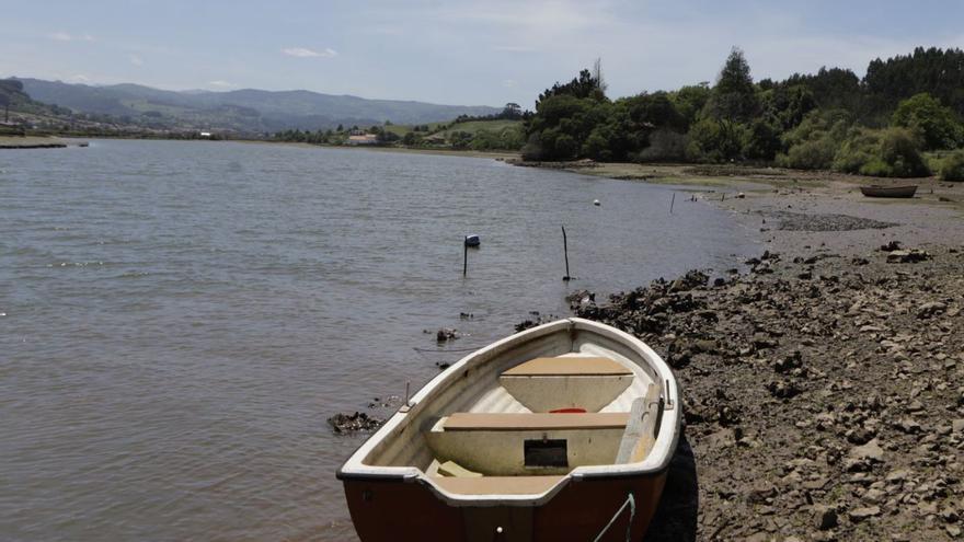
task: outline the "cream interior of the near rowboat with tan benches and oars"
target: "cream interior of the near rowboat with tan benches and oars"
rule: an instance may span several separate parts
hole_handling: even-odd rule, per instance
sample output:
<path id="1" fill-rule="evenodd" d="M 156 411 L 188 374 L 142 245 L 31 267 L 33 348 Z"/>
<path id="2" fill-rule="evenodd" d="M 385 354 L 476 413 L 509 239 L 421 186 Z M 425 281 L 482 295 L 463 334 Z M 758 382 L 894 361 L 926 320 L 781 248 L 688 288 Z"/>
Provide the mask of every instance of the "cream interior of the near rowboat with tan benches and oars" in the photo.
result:
<path id="1" fill-rule="evenodd" d="M 558 324 L 436 377 L 364 464 L 417 468 L 449 494 L 537 495 L 582 466 L 645 460 L 665 406 L 652 360 L 616 337 Z"/>

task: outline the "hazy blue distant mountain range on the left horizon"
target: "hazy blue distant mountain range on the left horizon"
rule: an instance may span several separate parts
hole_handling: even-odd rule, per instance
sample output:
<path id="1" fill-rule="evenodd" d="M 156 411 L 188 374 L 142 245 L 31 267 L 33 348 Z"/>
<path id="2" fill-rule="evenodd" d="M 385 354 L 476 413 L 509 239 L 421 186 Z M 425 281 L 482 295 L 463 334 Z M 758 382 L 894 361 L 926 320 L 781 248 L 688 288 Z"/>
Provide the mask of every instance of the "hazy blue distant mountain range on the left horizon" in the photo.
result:
<path id="1" fill-rule="evenodd" d="M 501 107 L 438 105 L 397 100 L 366 100 L 310 91 L 165 91 L 139 84 L 95 87 L 41 79 L 18 79 L 38 102 L 77 113 L 111 115 L 125 123 L 170 129 L 265 132 L 345 126 L 426 124 L 459 115 L 491 115 Z"/>

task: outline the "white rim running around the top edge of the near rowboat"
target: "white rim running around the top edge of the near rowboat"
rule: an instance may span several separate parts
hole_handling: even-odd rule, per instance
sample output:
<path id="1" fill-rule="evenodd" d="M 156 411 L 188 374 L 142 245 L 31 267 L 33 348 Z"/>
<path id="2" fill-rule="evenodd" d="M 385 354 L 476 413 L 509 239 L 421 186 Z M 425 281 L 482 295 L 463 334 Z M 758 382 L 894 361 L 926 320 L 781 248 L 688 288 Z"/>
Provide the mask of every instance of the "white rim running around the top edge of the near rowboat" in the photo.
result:
<path id="1" fill-rule="evenodd" d="M 540 494 L 491 494 L 491 495 L 462 495 L 446 492 L 435 484 L 431 476 L 417 466 L 383 466 L 368 465 L 363 460 L 375 451 L 376 447 L 386 438 L 405 424 L 410 416 L 417 416 L 432 400 L 443 393 L 450 380 L 461 378 L 460 373 L 468 370 L 472 365 L 481 365 L 495 359 L 502 350 L 506 350 L 525 342 L 550 335 L 553 333 L 570 333 L 573 337 L 578 332 L 590 332 L 602 337 L 630 346 L 641 358 L 635 362 L 642 370 L 654 371 L 663 389 L 662 397 L 667 402 L 663 411 L 659 424 L 659 437 L 646 455 L 646 459 L 636 463 L 584 465 L 577 466 L 564 475 L 556 484 Z M 480 360 L 481 359 L 481 360 Z M 667 389 L 668 385 L 668 389 Z M 672 404 L 669 404 L 672 402 Z M 409 401 L 409 404 L 394 413 L 381 428 L 371 435 L 358 449 L 353 452 L 336 472 L 336 477 L 342 481 L 398 481 L 405 483 L 418 482 L 426 485 L 443 500 L 451 506 L 473 506 L 478 504 L 489 505 L 516 505 L 539 506 L 551 499 L 559 491 L 572 482 L 589 482 L 593 480 L 611 480 L 615 477 L 646 477 L 657 476 L 664 473 L 673 459 L 673 453 L 679 439 L 681 424 L 681 400 L 678 383 L 672 369 L 652 348 L 639 338 L 617 330 L 615 327 L 594 322 L 590 320 L 569 318 L 550 322 L 548 324 L 531 327 L 508 337 L 504 337 L 487 346 L 484 346 L 452 364 L 448 369 L 435 376 Z M 404 411 L 404 412 L 403 412 Z"/>

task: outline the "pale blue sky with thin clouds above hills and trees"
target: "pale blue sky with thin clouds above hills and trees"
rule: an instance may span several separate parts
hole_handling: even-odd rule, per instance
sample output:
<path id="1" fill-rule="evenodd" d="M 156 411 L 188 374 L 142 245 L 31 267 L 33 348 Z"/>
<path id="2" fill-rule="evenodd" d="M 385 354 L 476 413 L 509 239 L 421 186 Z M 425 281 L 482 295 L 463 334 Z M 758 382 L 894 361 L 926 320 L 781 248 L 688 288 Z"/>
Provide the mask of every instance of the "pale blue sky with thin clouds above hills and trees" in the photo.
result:
<path id="1" fill-rule="evenodd" d="M 960 0 L 0 0 L 0 77 L 169 90 L 305 89 L 532 107 L 601 59 L 610 97 L 713 81 L 863 76 L 916 46 L 964 48 Z"/>

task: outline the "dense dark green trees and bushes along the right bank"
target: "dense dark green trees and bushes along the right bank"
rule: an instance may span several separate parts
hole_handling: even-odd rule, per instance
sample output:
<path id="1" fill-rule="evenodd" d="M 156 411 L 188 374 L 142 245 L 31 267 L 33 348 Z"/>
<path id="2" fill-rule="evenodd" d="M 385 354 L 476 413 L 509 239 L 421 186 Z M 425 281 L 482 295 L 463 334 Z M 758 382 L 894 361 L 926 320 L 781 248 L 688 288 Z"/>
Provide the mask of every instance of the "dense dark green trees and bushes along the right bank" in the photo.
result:
<path id="1" fill-rule="evenodd" d="M 926 150 L 964 145 L 964 53 L 916 49 L 852 71 L 754 82 L 734 48 L 714 85 L 610 100 L 598 67 L 539 95 L 527 160 L 774 163 L 877 176 L 930 174 Z M 911 76 L 908 76 L 911 74 Z"/>

